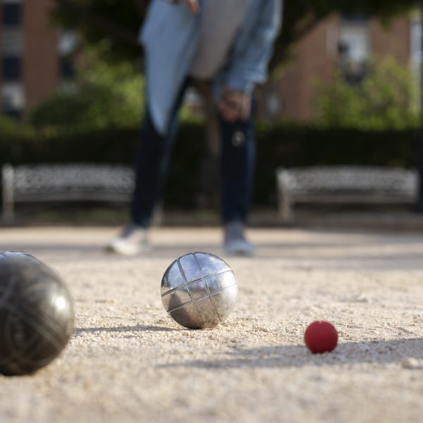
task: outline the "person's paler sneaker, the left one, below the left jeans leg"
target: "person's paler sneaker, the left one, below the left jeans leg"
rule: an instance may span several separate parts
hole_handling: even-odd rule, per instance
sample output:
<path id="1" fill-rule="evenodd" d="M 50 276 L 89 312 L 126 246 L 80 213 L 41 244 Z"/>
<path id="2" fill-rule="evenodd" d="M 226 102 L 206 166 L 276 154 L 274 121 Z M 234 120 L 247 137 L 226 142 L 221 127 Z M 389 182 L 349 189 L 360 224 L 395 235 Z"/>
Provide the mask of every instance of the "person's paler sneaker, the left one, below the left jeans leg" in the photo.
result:
<path id="1" fill-rule="evenodd" d="M 149 249 L 148 230 L 134 224 L 125 226 L 121 235 L 111 240 L 111 243 L 106 246 L 107 252 L 126 256 L 135 256 Z"/>

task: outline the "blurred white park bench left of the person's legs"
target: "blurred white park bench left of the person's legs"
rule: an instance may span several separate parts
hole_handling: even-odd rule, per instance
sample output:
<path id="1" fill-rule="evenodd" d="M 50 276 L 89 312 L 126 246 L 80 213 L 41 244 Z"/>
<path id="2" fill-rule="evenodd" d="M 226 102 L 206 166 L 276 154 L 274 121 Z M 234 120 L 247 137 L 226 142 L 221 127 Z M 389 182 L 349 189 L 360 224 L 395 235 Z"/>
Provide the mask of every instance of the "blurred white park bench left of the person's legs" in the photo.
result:
<path id="1" fill-rule="evenodd" d="M 12 222 L 18 202 L 128 202 L 133 169 L 106 164 L 2 166 L 3 220 Z"/>

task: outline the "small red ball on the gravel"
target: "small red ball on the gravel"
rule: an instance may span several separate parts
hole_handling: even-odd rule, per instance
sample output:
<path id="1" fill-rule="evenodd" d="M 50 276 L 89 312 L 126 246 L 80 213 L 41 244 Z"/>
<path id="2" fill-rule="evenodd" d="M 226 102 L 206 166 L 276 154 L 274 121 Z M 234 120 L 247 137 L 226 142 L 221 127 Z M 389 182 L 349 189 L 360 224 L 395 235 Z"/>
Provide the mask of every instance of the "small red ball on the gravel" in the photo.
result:
<path id="1" fill-rule="evenodd" d="M 313 321 L 304 333 L 307 348 L 313 353 L 330 353 L 338 344 L 338 332 L 329 321 Z"/>

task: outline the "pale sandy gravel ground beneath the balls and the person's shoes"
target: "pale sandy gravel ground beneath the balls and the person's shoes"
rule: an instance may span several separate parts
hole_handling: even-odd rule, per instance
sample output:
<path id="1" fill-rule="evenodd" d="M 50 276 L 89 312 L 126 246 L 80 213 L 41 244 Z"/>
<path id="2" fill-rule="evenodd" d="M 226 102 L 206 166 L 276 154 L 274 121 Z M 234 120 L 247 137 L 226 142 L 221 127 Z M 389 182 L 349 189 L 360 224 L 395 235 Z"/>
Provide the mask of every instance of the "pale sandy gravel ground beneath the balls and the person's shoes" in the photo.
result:
<path id="1" fill-rule="evenodd" d="M 421 422 L 423 234 L 252 229 L 254 258 L 226 257 L 216 228 L 158 228 L 154 250 L 106 255 L 117 228 L 1 228 L 75 297 L 75 334 L 32 376 L 0 376 L 0 422 Z M 207 251 L 240 295 L 221 326 L 190 331 L 164 312 L 161 276 Z M 333 353 L 307 324 L 331 321 Z"/>

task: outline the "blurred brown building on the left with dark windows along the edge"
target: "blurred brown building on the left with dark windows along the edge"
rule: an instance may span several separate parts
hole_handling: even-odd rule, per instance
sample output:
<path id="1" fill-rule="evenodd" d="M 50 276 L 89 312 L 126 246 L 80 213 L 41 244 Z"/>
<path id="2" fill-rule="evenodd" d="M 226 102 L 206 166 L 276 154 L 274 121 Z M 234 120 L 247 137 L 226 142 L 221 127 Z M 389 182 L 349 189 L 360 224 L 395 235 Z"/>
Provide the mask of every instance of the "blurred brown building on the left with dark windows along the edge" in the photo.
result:
<path id="1" fill-rule="evenodd" d="M 51 0 L 0 0 L 0 111 L 21 116 L 72 72 L 70 41 L 51 23 Z"/>

